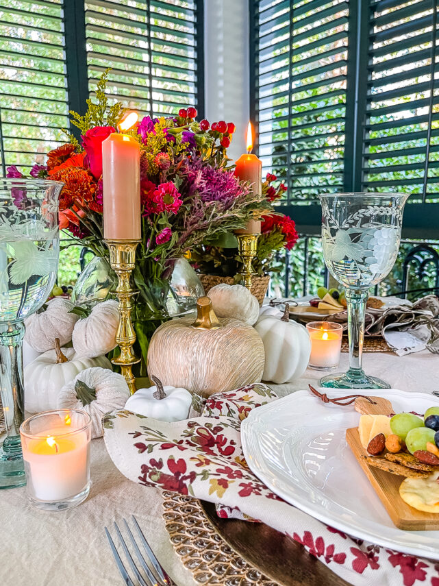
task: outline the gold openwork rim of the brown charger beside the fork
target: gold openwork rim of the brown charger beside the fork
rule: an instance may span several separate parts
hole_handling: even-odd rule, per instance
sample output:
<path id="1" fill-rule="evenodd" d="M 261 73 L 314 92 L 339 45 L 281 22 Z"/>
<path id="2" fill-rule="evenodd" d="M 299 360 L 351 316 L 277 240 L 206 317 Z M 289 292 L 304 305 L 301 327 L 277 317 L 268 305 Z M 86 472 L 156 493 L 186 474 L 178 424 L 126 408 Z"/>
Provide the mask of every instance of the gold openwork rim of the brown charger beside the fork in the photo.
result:
<path id="1" fill-rule="evenodd" d="M 199 501 L 163 491 L 163 518 L 175 552 L 199 584 L 278 586 L 244 561 L 214 531 Z"/>

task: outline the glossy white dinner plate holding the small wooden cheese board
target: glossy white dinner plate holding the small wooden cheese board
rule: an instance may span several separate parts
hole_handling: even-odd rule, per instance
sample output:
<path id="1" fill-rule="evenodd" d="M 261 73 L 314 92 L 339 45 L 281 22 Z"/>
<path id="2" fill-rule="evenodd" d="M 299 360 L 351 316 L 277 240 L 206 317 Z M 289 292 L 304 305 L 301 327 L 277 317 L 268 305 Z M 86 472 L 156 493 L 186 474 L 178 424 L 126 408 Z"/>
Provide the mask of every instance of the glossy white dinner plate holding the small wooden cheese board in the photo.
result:
<path id="1" fill-rule="evenodd" d="M 324 389 L 329 397 L 373 394 L 395 412 L 439 405 L 427 393 L 397 389 Z M 241 425 L 242 449 L 252 472 L 278 496 L 353 537 L 400 552 L 439 560 L 439 531 L 403 531 L 390 520 L 345 439 L 358 426 L 353 405 L 325 404 L 297 391 L 250 412 Z"/>

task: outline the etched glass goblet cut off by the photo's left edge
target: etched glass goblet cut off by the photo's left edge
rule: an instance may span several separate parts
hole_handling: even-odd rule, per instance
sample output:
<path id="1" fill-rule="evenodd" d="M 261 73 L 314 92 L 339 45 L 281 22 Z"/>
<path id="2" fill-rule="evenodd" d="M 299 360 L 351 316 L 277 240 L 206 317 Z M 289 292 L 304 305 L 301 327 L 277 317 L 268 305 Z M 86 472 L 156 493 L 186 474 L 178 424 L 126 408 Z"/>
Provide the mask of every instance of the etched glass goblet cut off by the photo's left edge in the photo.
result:
<path id="1" fill-rule="evenodd" d="M 0 393 L 6 437 L 0 489 L 26 483 L 19 428 L 24 419 L 23 320 L 49 296 L 60 239 L 55 181 L 0 178 Z"/>

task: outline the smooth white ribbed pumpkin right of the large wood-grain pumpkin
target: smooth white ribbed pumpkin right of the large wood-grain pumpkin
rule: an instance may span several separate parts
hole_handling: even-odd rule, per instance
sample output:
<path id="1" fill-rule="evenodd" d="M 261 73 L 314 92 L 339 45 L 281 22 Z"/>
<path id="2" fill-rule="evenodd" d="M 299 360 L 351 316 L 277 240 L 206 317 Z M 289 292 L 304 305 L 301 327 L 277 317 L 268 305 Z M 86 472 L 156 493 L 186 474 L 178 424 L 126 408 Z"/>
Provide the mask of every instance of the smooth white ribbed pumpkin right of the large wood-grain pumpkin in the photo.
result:
<path id="1" fill-rule="evenodd" d="M 255 330 L 264 343 L 265 366 L 262 380 L 282 384 L 300 378 L 308 366 L 311 339 L 308 330 L 297 321 L 288 318 L 289 307 L 279 319 L 262 315 Z"/>

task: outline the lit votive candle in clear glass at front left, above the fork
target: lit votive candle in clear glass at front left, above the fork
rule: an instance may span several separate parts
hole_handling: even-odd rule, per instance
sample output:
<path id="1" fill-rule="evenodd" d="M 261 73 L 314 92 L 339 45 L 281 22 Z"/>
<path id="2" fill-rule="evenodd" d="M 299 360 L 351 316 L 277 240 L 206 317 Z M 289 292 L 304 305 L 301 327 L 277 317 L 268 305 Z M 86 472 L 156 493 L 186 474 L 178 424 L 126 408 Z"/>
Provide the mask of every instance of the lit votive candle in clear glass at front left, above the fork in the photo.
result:
<path id="1" fill-rule="evenodd" d="M 45 411 L 21 424 L 27 498 L 36 509 L 64 511 L 88 497 L 91 424 L 79 409 Z"/>

